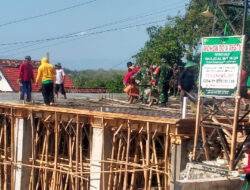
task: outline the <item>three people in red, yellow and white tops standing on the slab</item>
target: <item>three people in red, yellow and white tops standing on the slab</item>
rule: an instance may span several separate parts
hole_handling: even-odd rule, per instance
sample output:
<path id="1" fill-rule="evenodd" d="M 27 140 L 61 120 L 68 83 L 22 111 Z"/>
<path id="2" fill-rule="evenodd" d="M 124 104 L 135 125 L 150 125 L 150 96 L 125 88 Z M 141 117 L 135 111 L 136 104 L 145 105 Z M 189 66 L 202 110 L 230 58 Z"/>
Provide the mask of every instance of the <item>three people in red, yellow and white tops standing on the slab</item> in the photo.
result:
<path id="1" fill-rule="evenodd" d="M 54 90 L 54 77 L 55 90 Z M 45 105 L 54 104 L 54 93 L 58 98 L 58 92 L 61 91 L 66 99 L 66 93 L 64 90 L 65 74 L 62 69 L 61 63 L 55 64 L 55 67 L 49 63 L 49 60 L 44 57 L 41 60 L 41 65 L 38 68 L 36 80 L 34 79 L 33 67 L 31 64 L 31 57 L 26 56 L 25 60 L 19 66 L 18 83 L 20 85 L 20 100 L 24 102 L 26 94 L 26 102 L 31 102 L 32 83 L 38 86 L 38 83 L 42 83 L 42 95 Z"/>

